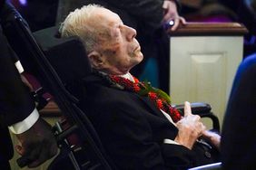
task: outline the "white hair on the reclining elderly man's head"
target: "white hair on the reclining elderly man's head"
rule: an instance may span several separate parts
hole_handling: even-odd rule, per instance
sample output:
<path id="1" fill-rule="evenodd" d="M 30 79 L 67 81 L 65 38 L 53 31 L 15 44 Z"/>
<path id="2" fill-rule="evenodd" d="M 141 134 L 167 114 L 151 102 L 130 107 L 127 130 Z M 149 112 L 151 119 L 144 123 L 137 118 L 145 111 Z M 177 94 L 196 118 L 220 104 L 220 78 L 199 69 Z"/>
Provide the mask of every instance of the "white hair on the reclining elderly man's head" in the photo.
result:
<path id="1" fill-rule="evenodd" d="M 62 37 L 79 36 L 84 43 L 86 52 L 92 52 L 97 44 L 95 28 L 89 24 L 94 21 L 95 10 L 103 8 L 101 5 L 84 5 L 80 9 L 68 14 L 64 23 L 61 24 L 59 32 Z"/>

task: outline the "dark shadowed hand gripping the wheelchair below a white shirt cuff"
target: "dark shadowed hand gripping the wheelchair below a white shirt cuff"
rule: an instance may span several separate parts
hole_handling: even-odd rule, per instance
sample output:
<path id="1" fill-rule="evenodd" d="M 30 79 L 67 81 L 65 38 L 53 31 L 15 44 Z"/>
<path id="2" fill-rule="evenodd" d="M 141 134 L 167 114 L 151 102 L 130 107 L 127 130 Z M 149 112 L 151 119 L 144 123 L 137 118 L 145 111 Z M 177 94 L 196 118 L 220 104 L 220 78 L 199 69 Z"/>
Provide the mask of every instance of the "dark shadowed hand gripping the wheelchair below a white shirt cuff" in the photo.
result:
<path id="1" fill-rule="evenodd" d="M 17 134 L 16 137 L 20 146 L 15 146 L 15 150 L 31 160 L 28 167 L 41 165 L 57 153 L 57 144 L 51 126 L 43 118 L 39 118 L 33 127 L 22 134 Z"/>

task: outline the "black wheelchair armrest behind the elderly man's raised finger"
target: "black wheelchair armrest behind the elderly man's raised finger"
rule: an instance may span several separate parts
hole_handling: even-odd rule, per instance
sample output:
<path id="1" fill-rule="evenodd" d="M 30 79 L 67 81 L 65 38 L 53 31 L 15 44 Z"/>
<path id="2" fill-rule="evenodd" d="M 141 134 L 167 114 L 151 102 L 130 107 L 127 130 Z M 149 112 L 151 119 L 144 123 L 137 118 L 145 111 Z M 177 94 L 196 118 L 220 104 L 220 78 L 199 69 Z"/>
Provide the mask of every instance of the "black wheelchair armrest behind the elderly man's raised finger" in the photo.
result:
<path id="1" fill-rule="evenodd" d="M 182 114 L 184 113 L 184 105 L 173 105 L 175 109 L 179 109 Z M 212 107 L 208 103 L 195 102 L 191 103 L 192 113 L 199 115 L 201 118 L 211 118 L 212 119 L 212 128 L 214 131 L 220 132 L 220 122 L 219 118 L 216 117 L 212 112 Z"/>

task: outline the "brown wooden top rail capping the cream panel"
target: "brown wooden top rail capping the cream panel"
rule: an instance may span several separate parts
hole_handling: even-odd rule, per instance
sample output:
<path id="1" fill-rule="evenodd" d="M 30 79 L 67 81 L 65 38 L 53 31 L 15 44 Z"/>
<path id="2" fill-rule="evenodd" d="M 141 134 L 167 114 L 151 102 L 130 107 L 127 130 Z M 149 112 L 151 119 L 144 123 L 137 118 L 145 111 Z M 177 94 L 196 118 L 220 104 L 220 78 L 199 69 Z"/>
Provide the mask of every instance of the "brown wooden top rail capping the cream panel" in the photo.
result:
<path id="1" fill-rule="evenodd" d="M 239 23 L 187 23 L 180 25 L 179 28 L 172 32 L 168 30 L 170 36 L 204 36 L 204 35 L 244 35 L 248 33 L 247 28 Z"/>

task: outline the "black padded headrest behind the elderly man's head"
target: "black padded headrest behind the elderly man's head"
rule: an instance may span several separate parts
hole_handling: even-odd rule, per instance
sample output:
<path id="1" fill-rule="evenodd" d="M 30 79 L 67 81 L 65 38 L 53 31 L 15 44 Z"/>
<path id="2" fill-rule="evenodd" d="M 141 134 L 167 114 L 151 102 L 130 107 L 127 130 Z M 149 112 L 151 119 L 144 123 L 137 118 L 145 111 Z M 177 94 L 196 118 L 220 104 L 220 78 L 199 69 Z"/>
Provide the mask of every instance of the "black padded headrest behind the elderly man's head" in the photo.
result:
<path id="1" fill-rule="evenodd" d="M 59 38 L 57 33 L 58 27 L 54 26 L 33 34 L 64 83 L 81 80 L 91 73 L 83 42 L 75 36 Z"/>

